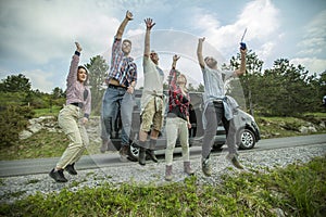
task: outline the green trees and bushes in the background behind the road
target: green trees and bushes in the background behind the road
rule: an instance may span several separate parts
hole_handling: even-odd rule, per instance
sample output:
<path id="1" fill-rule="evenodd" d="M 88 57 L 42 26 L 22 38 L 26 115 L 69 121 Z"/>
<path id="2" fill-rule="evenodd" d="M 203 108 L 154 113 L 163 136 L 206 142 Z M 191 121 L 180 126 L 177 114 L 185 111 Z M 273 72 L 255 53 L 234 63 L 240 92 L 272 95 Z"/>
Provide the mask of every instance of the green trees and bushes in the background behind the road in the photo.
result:
<path id="1" fill-rule="evenodd" d="M 246 74 L 227 82 L 227 94 L 234 97 L 242 110 L 266 117 L 300 117 L 305 113 L 325 112 L 322 100 L 326 95 L 326 71 L 318 76 L 312 75 L 302 65 L 290 64 L 287 59 L 276 60 L 271 68 L 263 71 L 263 63 L 250 50 Z M 238 53 L 230 59 L 229 65 L 223 64 L 222 68 L 236 69 L 239 65 Z M 97 55 L 85 66 L 92 75 L 89 79 L 92 115 L 99 115 L 109 65 Z M 167 88 L 164 84 L 164 89 Z M 203 92 L 204 86 L 188 84 L 188 90 Z M 18 141 L 18 132 L 26 128 L 36 110 L 49 108 L 58 114 L 65 103 L 65 90 L 59 87 L 51 93 L 33 90 L 24 74 L 11 75 L 0 81 L 0 146 L 10 146 Z"/>

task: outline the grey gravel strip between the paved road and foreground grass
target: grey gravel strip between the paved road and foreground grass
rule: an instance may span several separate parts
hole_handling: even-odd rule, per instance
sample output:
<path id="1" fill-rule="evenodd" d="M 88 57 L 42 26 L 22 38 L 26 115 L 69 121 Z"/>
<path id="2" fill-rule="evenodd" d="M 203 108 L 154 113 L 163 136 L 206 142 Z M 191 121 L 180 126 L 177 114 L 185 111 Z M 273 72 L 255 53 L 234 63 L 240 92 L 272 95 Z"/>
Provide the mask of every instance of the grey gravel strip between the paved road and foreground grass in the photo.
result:
<path id="1" fill-rule="evenodd" d="M 221 176 L 230 174 L 236 176 L 243 170 L 236 169 L 225 158 L 227 152 L 213 153 L 211 177 L 205 177 L 201 171 L 200 156 L 191 156 L 190 163 L 196 171 L 198 184 L 216 186 L 221 183 Z M 305 146 L 285 148 L 264 151 L 240 152 L 239 161 L 246 167 L 246 173 L 268 173 L 273 168 L 286 167 L 289 164 L 304 164 L 313 157 L 324 156 L 326 154 L 325 144 L 314 144 Z M 78 163 L 77 163 L 78 164 Z M 147 162 L 146 166 L 138 163 L 126 163 L 118 167 L 103 167 L 97 169 L 78 170 L 78 175 L 71 176 L 65 173 L 68 179 L 66 183 L 57 183 L 48 174 L 28 175 L 18 177 L 7 177 L 1 179 L 0 183 L 0 203 L 13 203 L 16 200 L 36 194 L 37 192 L 47 194 L 50 192 L 60 192 L 63 189 L 77 191 L 83 188 L 97 188 L 105 182 L 118 187 L 121 183 L 130 183 L 136 186 L 152 184 L 162 186 L 171 182 L 164 180 L 165 162 L 161 158 L 159 163 Z M 187 175 L 184 173 L 181 157 L 175 157 L 173 162 L 173 181 L 180 182 Z"/>

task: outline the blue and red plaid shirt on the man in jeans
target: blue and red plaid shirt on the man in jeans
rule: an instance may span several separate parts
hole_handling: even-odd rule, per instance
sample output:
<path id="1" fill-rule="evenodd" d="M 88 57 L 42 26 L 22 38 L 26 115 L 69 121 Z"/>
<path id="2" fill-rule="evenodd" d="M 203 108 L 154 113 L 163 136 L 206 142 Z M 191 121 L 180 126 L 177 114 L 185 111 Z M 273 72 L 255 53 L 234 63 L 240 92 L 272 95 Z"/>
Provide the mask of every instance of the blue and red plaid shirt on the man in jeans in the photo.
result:
<path id="1" fill-rule="evenodd" d="M 114 78 L 120 81 L 121 85 L 129 87 L 135 81 L 137 82 L 137 65 L 134 63 L 134 59 L 125 56 L 122 48 L 122 40 L 114 38 L 112 46 L 111 68 L 106 80 Z"/>

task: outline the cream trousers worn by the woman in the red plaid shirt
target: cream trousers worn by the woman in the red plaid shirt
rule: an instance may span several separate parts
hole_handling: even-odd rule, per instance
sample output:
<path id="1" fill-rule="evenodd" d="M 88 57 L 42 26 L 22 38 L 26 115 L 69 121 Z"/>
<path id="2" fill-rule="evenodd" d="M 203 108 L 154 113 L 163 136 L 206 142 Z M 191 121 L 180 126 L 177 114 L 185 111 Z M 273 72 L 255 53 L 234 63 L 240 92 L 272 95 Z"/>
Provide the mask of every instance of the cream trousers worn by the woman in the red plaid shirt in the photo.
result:
<path id="1" fill-rule="evenodd" d="M 179 117 L 167 117 L 166 118 L 166 150 L 165 150 L 165 162 L 166 165 L 172 165 L 173 151 L 177 138 L 180 140 L 183 149 L 184 162 L 189 162 L 189 143 L 188 143 L 188 127 L 187 122 Z"/>

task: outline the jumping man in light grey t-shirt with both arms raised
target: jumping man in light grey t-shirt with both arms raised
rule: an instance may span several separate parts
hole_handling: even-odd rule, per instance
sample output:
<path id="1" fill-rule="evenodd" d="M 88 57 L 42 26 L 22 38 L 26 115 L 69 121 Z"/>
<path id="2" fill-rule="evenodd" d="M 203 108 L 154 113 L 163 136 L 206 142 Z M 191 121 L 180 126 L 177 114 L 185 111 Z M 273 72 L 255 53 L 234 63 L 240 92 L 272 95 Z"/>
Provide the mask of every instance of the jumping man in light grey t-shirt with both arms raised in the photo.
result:
<path id="1" fill-rule="evenodd" d="M 243 166 L 238 162 L 238 153 L 235 140 L 236 128 L 233 124 L 233 113 L 238 105 L 234 99 L 225 95 L 224 81 L 230 77 L 237 77 L 246 72 L 246 49 L 240 49 L 241 64 L 240 69 L 224 72 L 217 68 L 217 61 L 212 56 L 203 59 L 202 44 L 205 38 L 199 38 L 197 55 L 199 65 L 202 69 L 204 80 L 204 112 L 203 128 L 204 137 L 202 144 L 202 171 L 205 176 L 212 175 L 210 154 L 217 125 L 222 120 L 226 130 L 228 146 L 227 159 L 239 169 Z"/>

